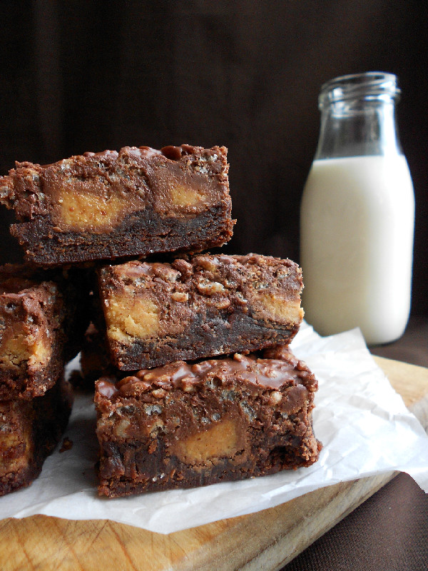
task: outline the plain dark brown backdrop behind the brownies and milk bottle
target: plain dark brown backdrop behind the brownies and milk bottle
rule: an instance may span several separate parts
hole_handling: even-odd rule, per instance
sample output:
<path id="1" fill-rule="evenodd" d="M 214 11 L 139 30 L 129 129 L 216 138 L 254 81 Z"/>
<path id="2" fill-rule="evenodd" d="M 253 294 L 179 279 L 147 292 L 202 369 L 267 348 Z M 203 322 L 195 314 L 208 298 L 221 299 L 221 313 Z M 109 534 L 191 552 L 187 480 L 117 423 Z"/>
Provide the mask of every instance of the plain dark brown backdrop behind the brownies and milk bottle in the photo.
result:
<path id="1" fill-rule="evenodd" d="M 422 3 L 423 4 L 423 3 Z M 229 252 L 299 261 L 320 85 L 399 76 L 417 200 L 412 313 L 428 314 L 427 39 L 419 1 L 14 1 L 0 4 L 0 174 L 124 145 L 229 148 Z M 10 214 L 1 209 L 1 220 Z M 16 257 L 4 224 L 1 258 Z"/>

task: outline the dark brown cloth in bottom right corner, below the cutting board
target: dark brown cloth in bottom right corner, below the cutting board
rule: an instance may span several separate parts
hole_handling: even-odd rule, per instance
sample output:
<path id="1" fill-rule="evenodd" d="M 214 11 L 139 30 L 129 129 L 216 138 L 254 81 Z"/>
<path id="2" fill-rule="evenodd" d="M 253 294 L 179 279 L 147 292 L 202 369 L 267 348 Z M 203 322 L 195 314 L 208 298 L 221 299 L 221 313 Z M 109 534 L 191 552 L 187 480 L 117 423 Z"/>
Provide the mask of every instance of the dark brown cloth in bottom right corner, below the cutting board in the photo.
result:
<path id="1" fill-rule="evenodd" d="M 428 494 L 399 474 L 282 571 L 428 569 Z"/>

